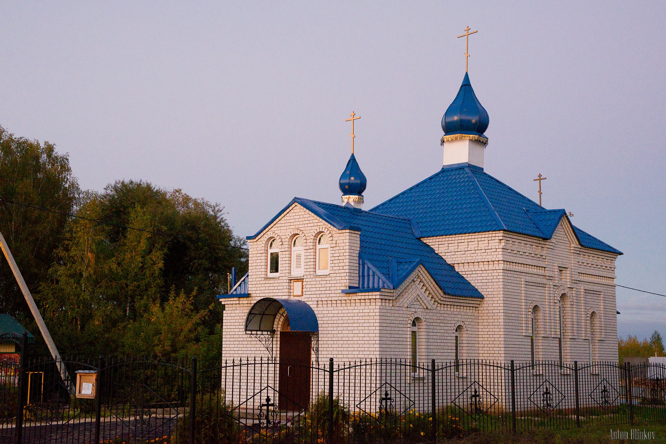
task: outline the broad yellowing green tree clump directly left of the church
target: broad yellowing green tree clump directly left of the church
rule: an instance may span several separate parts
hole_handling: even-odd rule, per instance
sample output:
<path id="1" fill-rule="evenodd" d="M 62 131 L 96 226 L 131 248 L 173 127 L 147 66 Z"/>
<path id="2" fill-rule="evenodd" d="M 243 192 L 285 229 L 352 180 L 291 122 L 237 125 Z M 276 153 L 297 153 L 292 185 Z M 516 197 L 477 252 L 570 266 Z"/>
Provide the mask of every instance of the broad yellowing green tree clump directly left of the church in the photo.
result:
<path id="1" fill-rule="evenodd" d="M 221 206 L 118 181 L 84 194 L 77 216 L 107 223 L 67 224 L 39 294 L 65 352 L 173 355 L 219 333 L 215 296 L 226 292 L 232 266 L 247 268 L 244 240 Z M 172 345 L 160 343 L 165 326 Z"/>

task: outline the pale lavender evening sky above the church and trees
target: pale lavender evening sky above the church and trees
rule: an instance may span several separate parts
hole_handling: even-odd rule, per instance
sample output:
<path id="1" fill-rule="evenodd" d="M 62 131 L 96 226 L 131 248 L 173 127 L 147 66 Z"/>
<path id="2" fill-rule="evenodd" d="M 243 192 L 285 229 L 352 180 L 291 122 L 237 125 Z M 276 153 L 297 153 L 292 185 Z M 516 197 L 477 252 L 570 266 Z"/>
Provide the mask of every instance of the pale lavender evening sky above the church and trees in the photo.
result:
<path id="1" fill-rule="evenodd" d="M 664 2 L 0 1 L 0 125 L 69 153 L 83 188 L 141 179 L 254 234 L 294 196 L 372 208 L 442 166 L 465 73 L 485 170 L 615 246 L 666 294 Z M 618 333 L 666 337 L 666 298 L 617 288 Z"/>

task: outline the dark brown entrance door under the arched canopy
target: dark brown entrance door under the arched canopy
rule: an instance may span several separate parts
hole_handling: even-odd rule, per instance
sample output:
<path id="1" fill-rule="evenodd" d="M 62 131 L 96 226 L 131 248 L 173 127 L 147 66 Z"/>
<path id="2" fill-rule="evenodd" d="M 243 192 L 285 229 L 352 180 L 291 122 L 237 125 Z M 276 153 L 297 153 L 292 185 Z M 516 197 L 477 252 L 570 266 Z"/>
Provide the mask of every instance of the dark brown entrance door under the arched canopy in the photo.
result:
<path id="1" fill-rule="evenodd" d="M 310 333 L 280 332 L 278 408 L 306 409 L 310 402 Z"/>

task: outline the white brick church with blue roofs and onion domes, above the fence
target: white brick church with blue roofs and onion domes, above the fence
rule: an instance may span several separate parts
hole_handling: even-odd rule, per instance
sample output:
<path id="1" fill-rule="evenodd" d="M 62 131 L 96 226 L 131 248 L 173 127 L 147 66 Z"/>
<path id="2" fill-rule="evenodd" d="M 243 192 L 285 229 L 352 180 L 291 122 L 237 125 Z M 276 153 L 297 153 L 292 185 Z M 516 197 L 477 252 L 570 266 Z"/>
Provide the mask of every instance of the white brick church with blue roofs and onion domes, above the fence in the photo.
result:
<path id="1" fill-rule="evenodd" d="M 248 236 L 224 358 L 617 361 L 622 253 L 486 174 L 488 122 L 466 74 L 438 172 L 362 210 L 352 152 L 342 205 L 294 198 Z"/>

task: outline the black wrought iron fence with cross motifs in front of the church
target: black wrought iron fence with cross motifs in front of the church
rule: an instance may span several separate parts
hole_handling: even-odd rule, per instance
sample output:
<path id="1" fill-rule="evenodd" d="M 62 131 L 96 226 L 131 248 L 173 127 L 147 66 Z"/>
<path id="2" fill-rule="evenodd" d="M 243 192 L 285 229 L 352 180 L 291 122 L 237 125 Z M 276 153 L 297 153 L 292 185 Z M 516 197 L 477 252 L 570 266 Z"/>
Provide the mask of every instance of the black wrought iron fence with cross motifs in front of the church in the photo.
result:
<path id="1" fill-rule="evenodd" d="M 72 378 L 97 372 L 88 398 L 55 364 L 0 362 L 3 443 L 426 443 L 666 420 L 656 364 L 64 359 Z"/>

